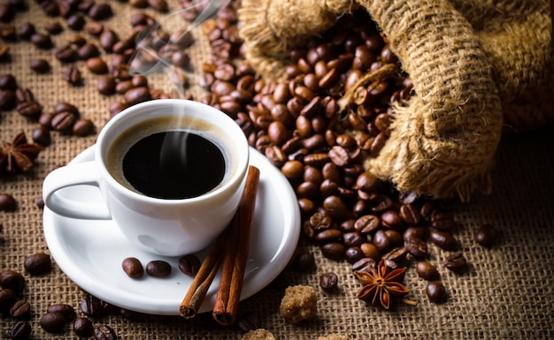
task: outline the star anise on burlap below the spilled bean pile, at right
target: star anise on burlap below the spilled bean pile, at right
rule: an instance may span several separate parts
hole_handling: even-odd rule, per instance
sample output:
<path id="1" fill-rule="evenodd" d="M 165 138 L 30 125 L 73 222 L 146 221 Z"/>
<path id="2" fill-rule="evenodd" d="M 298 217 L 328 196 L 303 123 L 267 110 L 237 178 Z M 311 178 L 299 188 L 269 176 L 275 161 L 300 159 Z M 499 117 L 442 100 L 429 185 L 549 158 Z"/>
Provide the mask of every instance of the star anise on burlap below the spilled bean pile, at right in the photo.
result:
<path id="1" fill-rule="evenodd" d="M 373 306 L 381 303 L 385 309 L 389 309 L 391 296 L 396 298 L 408 294 L 404 287 L 404 274 L 406 268 L 391 269 L 381 260 L 377 269 L 371 268 L 369 272 L 356 272 L 356 277 L 364 287 L 358 292 L 357 298 L 371 302 Z"/>

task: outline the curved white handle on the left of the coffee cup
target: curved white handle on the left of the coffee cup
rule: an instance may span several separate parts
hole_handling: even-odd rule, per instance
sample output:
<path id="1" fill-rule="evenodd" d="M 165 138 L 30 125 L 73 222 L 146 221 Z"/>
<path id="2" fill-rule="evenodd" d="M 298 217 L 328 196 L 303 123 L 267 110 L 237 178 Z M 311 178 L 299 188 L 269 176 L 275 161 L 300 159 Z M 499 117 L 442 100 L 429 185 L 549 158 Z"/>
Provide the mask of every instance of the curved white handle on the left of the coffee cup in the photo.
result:
<path id="1" fill-rule="evenodd" d="M 88 203 L 79 200 L 69 200 L 59 192 L 75 185 L 96 186 L 98 190 L 100 172 L 96 162 L 79 162 L 69 164 L 50 172 L 42 183 L 42 198 L 44 205 L 58 215 L 84 220 L 112 219 L 105 204 Z"/>

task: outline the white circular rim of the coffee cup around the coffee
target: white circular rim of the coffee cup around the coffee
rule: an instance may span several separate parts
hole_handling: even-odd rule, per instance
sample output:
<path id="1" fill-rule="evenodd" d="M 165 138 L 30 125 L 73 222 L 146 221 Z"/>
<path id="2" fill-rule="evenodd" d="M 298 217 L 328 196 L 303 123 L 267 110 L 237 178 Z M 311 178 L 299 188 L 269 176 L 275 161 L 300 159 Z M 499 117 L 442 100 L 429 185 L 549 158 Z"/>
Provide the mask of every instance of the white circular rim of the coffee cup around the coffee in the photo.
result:
<path id="1" fill-rule="evenodd" d="M 243 150 L 243 151 L 239 151 L 238 153 L 237 169 L 235 170 L 233 175 L 230 178 L 228 178 L 227 182 L 224 185 L 221 185 L 215 190 L 212 190 L 208 193 L 201 194 L 200 196 L 196 196 L 196 197 L 190 197 L 190 198 L 184 198 L 184 199 L 163 199 L 163 198 L 150 197 L 142 193 L 136 193 L 135 191 L 127 188 L 125 185 L 122 185 L 121 183 L 119 183 L 118 180 L 112 177 L 112 174 L 107 169 L 105 164 L 105 155 L 103 155 L 105 154 L 105 152 L 107 152 L 107 150 L 110 147 L 110 145 L 106 146 L 103 144 L 104 140 L 106 140 L 106 135 L 109 132 L 111 132 L 112 129 L 117 128 L 118 125 L 126 124 L 126 120 L 130 120 L 131 118 L 133 120 L 136 120 L 135 117 L 131 117 L 132 115 L 137 115 L 140 112 L 144 112 L 145 110 L 150 110 L 151 108 L 157 108 L 158 110 L 160 109 L 160 107 L 163 107 L 163 106 L 167 108 L 188 107 L 194 110 L 202 110 L 203 116 L 199 116 L 199 117 L 196 116 L 200 119 L 206 116 L 212 116 L 212 117 L 217 116 L 218 123 L 222 123 L 221 125 L 219 125 L 221 130 L 227 132 L 229 134 L 229 137 L 235 141 L 236 145 L 238 145 L 239 149 Z M 159 116 L 154 116 L 154 117 L 165 117 L 165 115 L 160 114 Z M 137 120 L 134 124 L 142 120 L 143 119 Z M 131 125 L 133 124 L 128 124 L 125 126 L 125 128 L 128 128 Z M 112 117 L 106 123 L 106 125 L 104 125 L 102 130 L 98 133 L 98 137 L 96 139 L 95 162 L 98 164 L 101 170 L 101 173 L 102 173 L 101 178 L 103 178 L 104 181 L 107 181 L 111 187 L 116 188 L 119 193 L 125 194 L 127 197 L 133 200 L 138 200 L 149 204 L 173 206 L 173 205 L 180 205 L 184 202 L 199 203 L 204 200 L 210 200 L 212 199 L 212 197 L 217 196 L 221 192 L 227 191 L 230 186 L 236 185 L 237 182 L 241 182 L 242 179 L 245 178 L 246 171 L 248 170 L 249 160 L 250 160 L 250 147 L 248 145 L 248 140 L 246 139 L 244 132 L 242 132 L 241 127 L 235 123 L 235 120 L 227 116 L 225 112 L 218 110 L 216 108 L 213 108 L 210 105 L 204 104 L 202 102 L 190 101 L 187 99 L 157 99 L 157 100 L 151 100 L 148 102 L 140 102 L 133 106 L 130 106 L 125 110 L 120 111 L 114 117 Z"/>

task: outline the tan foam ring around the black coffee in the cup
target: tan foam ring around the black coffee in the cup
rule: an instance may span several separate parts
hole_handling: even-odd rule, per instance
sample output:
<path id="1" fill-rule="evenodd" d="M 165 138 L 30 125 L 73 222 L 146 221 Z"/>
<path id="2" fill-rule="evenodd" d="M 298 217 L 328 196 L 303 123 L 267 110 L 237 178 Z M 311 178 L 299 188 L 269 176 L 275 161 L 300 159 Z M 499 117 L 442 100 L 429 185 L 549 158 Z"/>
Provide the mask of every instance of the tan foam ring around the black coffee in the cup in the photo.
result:
<path id="1" fill-rule="evenodd" d="M 106 157 L 106 168 L 112 174 L 112 177 L 121 185 L 135 193 L 140 193 L 125 178 L 122 166 L 123 159 L 127 155 L 127 151 L 137 141 L 154 133 L 168 131 L 189 131 L 195 133 L 207 140 L 211 140 L 222 151 L 225 157 L 225 176 L 219 185 L 215 186 L 209 193 L 225 185 L 232 174 L 235 173 L 238 155 L 236 155 L 236 150 L 225 147 L 234 144 L 234 141 L 222 129 L 197 117 L 155 117 L 128 127 L 113 141 Z M 140 194 L 143 195 L 143 193 Z"/>

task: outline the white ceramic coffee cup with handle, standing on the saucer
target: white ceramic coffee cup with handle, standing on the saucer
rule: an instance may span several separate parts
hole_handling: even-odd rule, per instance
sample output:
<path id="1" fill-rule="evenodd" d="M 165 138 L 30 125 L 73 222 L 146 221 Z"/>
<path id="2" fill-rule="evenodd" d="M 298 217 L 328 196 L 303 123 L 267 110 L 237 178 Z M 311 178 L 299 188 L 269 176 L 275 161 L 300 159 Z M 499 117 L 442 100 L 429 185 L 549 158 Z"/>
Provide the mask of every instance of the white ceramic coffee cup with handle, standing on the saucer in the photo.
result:
<path id="1" fill-rule="evenodd" d="M 107 165 L 112 144 L 123 132 L 150 119 L 177 121 L 170 130 L 195 132 L 218 145 L 227 167 L 221 183 L 196 197 L 160 199 L 138 193 L 116 180 Z M 196 123 L 191 126 L 189 122 Z M 94 161 L 71 163 L 50 172 L 42 185 L 42 197 L 46 207 L 58 215 L 112 219 L 142 250 L 179 256 L 204 249 L 226 228 L 241 200 L 248 163 L 248 141 L 226 114 L 199 102 L 154 100 L 131 106 L 113 117 L 98 135 Z M 102 204 L 68 200 L 58 194 L 73 185 L 97 186 Z"/>

